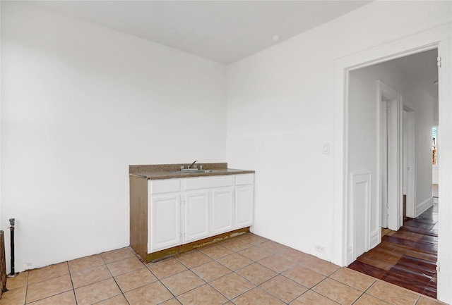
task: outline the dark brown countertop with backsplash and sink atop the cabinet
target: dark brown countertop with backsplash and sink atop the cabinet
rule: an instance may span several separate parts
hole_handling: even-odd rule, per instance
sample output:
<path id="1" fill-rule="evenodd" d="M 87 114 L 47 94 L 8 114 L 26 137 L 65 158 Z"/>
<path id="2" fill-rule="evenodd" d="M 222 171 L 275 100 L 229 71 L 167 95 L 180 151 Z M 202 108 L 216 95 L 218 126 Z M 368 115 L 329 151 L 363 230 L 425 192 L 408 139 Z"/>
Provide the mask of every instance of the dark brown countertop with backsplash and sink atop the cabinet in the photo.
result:
<path id="1" fill-rule="evenodd" d="M 172 178 L 191 178 L 191 177 L 207 177 L 218 175 L 237 175 L 251 174 L 254 170 L 237 170 L 227 168 L 227 163 L 196 163 L 198 168 L 203 166 L 203 170 L 212 170 L 209 173 L 190 173 L 189 171 L 180 170 L 181 166 L 189 166 L 189 164 L 154 164 L 143 166 L 129 166 L 129 175 L 140 178 L 157 180 Z"/>

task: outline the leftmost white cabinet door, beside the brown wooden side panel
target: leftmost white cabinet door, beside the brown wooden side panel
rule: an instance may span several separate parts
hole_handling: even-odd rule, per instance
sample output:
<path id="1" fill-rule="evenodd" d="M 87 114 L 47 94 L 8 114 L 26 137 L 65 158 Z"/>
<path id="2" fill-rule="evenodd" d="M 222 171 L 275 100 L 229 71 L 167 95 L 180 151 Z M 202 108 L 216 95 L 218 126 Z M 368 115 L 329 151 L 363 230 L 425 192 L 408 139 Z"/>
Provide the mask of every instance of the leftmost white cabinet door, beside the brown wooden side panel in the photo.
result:
<path id="1" fill-rule="evenodd" d="M 150 196 L 148 211 L 148 252 L 181 244 L 180 195 Z"/>

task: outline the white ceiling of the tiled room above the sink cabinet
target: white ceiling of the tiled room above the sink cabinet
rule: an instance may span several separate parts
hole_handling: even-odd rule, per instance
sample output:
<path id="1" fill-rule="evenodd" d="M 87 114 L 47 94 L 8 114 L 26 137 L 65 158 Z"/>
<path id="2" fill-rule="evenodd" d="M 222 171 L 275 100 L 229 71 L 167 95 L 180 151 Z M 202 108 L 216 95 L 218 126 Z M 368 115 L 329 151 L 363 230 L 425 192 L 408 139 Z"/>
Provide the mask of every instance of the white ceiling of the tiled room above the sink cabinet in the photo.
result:
<path id="1" fill-rule="evenodd" d="M 30 1 L 158 44 L 232 63 L 371 1 Z"/>

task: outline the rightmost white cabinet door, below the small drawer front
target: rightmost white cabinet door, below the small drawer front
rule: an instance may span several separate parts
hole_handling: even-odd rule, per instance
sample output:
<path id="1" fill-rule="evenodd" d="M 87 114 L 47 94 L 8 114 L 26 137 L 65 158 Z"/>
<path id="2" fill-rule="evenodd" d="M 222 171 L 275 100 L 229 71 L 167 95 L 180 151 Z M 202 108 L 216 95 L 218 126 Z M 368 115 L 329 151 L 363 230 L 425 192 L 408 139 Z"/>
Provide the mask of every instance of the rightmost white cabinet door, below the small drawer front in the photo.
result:
<path id="1" fill-rule="evenodd" d="M 235 189 L 235 228 L 253 224 L 254 186 L 247 185 Z"/>

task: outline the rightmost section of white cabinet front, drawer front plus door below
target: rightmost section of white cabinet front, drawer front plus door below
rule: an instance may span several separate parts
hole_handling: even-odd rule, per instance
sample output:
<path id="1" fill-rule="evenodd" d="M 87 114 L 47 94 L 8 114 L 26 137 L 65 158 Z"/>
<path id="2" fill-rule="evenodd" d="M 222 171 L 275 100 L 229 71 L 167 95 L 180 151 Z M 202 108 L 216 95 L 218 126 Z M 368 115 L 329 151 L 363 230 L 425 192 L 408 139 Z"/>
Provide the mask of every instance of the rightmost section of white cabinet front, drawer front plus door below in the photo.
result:
<path id="1" fill-rule="evenodd" d="M 237 175 L 235 179 L 235 226 L 244 228 L 254 221 L 254 174 Z"/>

